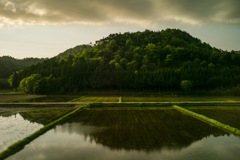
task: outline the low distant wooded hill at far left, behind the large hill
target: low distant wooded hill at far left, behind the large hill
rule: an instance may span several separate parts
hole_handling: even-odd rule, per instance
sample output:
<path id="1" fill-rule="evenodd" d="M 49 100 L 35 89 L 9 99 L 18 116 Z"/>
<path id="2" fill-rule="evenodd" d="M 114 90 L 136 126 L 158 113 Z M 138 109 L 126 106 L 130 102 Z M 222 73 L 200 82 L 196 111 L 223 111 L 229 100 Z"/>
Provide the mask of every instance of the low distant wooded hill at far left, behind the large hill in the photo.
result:
<path id="1" fill-rule="evenodd" d="M 8 78 L 15 71 L 43 61 L 44 59 L 39 58 L 15 59 L 9 56 L 0 57 L 0 78 Z"/>

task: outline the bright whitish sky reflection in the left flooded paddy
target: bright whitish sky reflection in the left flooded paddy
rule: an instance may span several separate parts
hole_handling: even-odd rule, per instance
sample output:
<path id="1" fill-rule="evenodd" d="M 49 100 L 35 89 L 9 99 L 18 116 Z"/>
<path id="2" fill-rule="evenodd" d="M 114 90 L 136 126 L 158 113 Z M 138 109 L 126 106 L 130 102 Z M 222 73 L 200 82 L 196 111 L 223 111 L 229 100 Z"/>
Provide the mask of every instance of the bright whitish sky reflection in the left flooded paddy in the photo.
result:
<path id="1" fill-rule="evenodd" d="M 12 143 L 39 130 L 41 127 L 43 125 L 31 123 L 23 119 L 20 114 L 7 117 L 0 116 L 0 152 Z"/>

